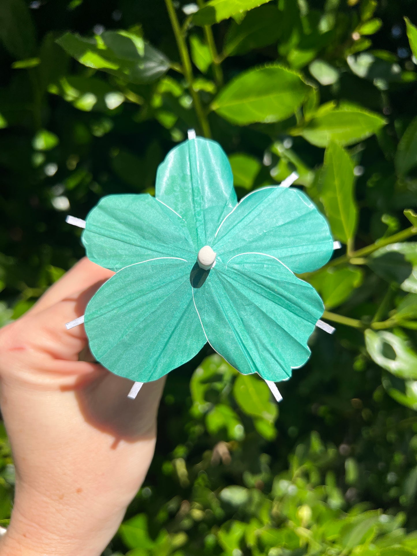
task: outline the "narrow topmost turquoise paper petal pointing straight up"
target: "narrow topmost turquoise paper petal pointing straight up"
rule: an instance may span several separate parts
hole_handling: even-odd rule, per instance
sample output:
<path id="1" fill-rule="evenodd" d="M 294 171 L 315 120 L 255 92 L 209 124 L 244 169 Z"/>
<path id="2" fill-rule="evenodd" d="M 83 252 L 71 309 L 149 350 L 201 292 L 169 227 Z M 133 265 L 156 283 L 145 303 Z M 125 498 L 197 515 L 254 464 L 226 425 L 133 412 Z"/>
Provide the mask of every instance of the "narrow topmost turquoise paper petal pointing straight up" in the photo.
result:
<path id="1" fill-rule="evenodd" d="M 197 251 L 210 245 L 237 203 L 229 160 L 219 143 L 196 137 L 173 148 L 158 168 L 155 196 L 187 222 Z"/>

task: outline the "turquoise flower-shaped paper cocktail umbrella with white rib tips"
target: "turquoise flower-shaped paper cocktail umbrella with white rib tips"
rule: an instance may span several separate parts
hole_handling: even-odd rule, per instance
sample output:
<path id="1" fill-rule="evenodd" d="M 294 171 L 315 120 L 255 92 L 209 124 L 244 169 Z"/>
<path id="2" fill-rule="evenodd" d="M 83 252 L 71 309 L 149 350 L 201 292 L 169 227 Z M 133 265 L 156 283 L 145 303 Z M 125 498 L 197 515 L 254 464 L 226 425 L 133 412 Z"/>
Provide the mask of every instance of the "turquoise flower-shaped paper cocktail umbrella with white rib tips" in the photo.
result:
<path id="1" fill-rule="evenodd" d="M 141 385 L 189 361 L 206 342 L 240 373 L 275 383 L 304 365 L 320 321 L 320 296 L 294 272 L 319 269 L 334 249 L 310 199 L 280 186 L 239 203 L 218 143 L 196 137 L 173 148 L 155 197 L 103 197 L 85 227 L 88 258 L 116 272 L 97 291 L 84 322 L 97 361 Z"/>

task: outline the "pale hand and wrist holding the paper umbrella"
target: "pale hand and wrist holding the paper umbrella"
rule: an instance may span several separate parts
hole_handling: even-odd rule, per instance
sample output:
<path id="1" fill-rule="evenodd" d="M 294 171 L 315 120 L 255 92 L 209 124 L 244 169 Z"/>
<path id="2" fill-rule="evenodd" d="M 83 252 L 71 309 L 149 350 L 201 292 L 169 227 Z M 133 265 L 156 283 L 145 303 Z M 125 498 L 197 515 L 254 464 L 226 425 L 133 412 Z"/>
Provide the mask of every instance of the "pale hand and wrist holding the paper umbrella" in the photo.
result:
<path id="1" fill-rule="evenodd" d="M 100 556 L 155 450 L 163 379 L 132 386 L 88 356 L 65 323 L 113 272 L 82 259 L 0 330 L 0 404 L 16 495 L 0 556 Z"/>

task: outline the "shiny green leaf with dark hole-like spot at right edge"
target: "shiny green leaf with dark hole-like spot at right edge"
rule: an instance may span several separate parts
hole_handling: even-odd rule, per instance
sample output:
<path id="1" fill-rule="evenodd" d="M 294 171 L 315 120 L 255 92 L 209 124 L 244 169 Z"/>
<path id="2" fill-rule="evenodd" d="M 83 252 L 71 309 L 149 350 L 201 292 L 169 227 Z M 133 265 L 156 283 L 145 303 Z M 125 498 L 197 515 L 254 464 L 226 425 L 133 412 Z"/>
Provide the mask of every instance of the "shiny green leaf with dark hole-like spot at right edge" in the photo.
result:
<path id="1" fill-rule="evenodd" d="M 385 330 L 365 330 L 369 355 L 383 369 L 403 379 L 417 379 L 417 354 L 400 336 Z"/>

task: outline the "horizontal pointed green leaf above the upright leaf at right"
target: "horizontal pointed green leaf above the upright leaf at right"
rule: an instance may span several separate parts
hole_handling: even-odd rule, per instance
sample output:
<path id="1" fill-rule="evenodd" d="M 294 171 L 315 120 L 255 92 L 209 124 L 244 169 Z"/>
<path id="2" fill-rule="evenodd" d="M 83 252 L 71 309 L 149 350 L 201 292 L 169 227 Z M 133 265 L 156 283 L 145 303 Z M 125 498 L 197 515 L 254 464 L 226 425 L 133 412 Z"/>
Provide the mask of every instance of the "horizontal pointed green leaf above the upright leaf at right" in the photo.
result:
<path id="1" fill-rule="evenodd" d="M 385 124 L 385 118 L 375 112 L 342 104 L 334 110 L 317 113 L 315 118 L 301 130 L 295 130 L 293 135 L 302 135 L 317 147 L 326 147 L 331 141 L 347 146 L 370 137 Z"/>

